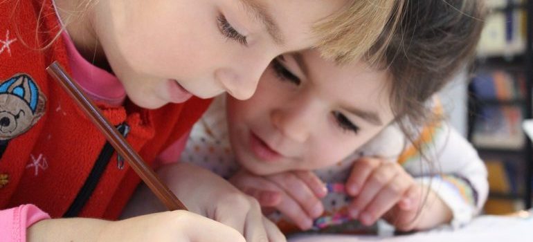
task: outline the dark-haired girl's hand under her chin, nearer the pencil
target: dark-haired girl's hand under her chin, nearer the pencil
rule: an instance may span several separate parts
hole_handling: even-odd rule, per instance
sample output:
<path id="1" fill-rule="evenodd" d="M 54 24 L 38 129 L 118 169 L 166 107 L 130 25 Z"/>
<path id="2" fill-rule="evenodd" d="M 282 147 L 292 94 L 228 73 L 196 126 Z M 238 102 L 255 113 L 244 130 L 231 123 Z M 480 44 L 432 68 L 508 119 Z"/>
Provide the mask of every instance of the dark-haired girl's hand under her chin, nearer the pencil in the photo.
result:
<path id="1" fill-rule="evenodd" d="M 310 229 L 314 218 L 324 212 L 320 198 L 327 194 L 327 189 L 311 171 L 255 176 L 242 169 L 230 181 L 235 187 L 258 199 L 264 211 L 280 211 L 301 230 Z"/>

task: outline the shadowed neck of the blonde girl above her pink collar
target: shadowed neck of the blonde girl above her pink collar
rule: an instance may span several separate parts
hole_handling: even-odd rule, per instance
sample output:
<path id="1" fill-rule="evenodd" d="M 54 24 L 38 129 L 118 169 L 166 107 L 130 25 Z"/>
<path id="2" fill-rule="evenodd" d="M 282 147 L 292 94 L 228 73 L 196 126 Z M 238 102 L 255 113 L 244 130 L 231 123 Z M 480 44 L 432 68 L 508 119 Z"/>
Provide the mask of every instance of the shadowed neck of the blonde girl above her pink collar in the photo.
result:
<path id="1" fill-rule="evenodd" d="M 57 15 L 80 55 L 93 65 L 110 71 L 93 21 L 96 4 L 96 0 L 55 0 Z"/>

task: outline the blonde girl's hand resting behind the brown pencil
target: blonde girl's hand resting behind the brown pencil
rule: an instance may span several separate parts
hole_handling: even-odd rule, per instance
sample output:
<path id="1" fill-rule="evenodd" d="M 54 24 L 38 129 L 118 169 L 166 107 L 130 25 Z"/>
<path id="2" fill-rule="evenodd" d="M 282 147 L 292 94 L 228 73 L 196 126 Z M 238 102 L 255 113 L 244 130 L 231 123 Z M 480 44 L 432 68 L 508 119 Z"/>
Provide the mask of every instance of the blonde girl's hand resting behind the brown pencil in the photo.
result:
<path id="1" fill-rule="evenodd" d="M 249 242 L 286 241 L 258 201 L 224 178 L 188 163 L 166 165 L 158 173 L 191 212 L 235 228 Z"/>

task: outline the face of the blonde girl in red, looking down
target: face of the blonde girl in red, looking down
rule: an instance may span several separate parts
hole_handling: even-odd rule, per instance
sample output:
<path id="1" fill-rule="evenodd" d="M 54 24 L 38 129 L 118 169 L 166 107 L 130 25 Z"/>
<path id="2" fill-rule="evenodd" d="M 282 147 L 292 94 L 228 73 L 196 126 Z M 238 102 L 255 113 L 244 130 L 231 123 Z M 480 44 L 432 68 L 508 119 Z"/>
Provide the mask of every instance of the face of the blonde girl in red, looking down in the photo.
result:
<path id="1" fill-rule="evenodd" d="M 224 91 L 242 100 L 254 93 L 271 59 L 315 44 L 311 27 L 344 2 L 114 0 L 98 7 L 107 13 L 96 19 L 96 31 L 128 97 L 140 106 Z"/>

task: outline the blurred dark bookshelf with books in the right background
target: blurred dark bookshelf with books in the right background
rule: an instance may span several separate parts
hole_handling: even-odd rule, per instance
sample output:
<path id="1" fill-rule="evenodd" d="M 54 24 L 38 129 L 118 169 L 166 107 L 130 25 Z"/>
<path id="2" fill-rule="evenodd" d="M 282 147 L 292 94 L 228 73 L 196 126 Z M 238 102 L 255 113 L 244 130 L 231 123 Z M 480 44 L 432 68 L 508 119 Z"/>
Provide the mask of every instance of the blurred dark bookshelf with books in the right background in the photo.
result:
<path id="1" fill-rule="evenodd" d="M 506 188 L 491 189 L 489 199 L 522 201 L 530 208 L 533 151 L 521 123 L 533 111 L 533 0 L 487 3 L 491 11 L 469 84 L 467 136 L 487 164 L 500 162 L 505 170 Z"/>

